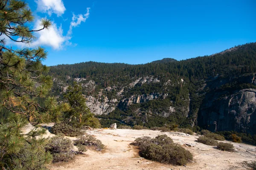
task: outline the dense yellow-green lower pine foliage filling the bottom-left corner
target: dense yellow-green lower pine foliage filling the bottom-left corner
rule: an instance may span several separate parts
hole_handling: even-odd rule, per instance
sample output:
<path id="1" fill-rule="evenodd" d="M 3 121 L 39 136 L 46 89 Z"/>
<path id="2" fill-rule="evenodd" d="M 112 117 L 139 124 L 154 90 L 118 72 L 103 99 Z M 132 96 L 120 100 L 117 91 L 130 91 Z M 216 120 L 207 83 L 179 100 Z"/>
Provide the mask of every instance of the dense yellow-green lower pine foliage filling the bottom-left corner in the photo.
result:
<path id="1" fill-rule="evenodd" d="M 6 122 L 0 123 L 1 169 L 46 169 L 46 164 L 51 163 L 52 156 L 44 150 L 46 140 L 39 137 L 44 130 L 35 127 L 25 136 L 21 134 L 21 129 L 28 122 L 19 115 L 9 118 Z"/>

